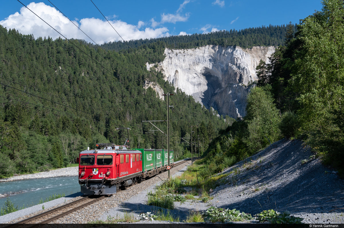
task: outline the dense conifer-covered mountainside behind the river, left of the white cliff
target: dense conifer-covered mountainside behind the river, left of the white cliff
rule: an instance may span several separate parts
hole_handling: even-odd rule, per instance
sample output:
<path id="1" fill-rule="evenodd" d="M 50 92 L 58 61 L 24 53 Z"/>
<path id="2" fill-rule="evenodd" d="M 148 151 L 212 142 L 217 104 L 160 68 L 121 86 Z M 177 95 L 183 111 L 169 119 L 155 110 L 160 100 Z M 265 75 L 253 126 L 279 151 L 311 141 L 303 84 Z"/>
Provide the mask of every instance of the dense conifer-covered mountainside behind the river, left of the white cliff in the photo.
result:
<path id="1" fill-rule="evenodd" d="M 165 93 L 175 91 L 145 66 L 164 58 L 161 43 L 104 51 L 2 26 L 0 40 L 0 176 L 65 166 L 98 142 L 123 143 L 117 127 L 131 128 L 131 147 L 166 146 L 165 135 L 141 122 L 165 120 L 167 112 L 166 101 L 143 88 L 145 81 L 160 84 Z M 190 125 L 198 125 L 209 142 L 227 125 L 180 90 L 170 105 L 171 142 L 188 136 Z M 159 127 L 166 131 L 165 123 Z M 172 149 L 181 156 L 185 148 Z"/>

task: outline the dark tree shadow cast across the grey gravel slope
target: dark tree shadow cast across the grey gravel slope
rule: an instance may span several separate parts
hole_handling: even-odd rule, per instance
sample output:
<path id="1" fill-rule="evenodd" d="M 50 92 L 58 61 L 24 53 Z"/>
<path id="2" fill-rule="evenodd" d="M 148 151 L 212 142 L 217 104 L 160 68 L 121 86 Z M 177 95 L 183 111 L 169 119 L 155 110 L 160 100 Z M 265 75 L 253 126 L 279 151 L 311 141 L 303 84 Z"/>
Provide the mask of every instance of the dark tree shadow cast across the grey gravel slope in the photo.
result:
<path id="1" fill-rule="evenodd" d="M 244 196 L 238 194 L 236 202 L 222 202 L 217 205 L 251 214 L 268 209 L 289 210 L 292 213 L 328 213 L 334 207 L 342 207 L 340 198 L 344 197 L 343 180 L 326 169 L 319 159 L 301 164 L 302 160 L 312 155 L 310 149 L 302 146 L 301 141 L 282 140 L 281 143 L 282 147 L 271 146 L 253 156 L 258 159 L 262 156 L 261 159 L 265 160 L 255 171 L 250 170 L 237 177 L 241 183 L 247 181 L 241 192 L 249 191 L 253 186 L 261 186 L 261 189 L 257 189 L 257 192 L 248 198 L 245 196 L 243 200 L 240 198 Z M 215 189 L 214 192 L 216 191 Z"/>

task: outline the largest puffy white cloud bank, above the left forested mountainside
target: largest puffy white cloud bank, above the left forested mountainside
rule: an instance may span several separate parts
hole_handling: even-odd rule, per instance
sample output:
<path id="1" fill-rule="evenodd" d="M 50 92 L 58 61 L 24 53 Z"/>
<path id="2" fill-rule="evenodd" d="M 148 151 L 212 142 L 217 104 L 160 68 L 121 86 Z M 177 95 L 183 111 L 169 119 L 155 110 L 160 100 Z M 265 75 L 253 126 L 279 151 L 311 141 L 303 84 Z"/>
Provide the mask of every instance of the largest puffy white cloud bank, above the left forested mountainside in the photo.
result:
<path id="1" fill-rule="evenodd" d="M 65 37 L 91 41 L 88 40 L 85 34 L 75 27 L 66 17 L 64 17 L 63 14 L 54 8 L 45 5 L 44 3 L 34 2 L 30 3 L 28 8 Z M 103 44 L 104 42 L 109 41 L 118 41 L 121 39 L 107 21 L 95 18 L 84 18 L 81 19 L 79 23 L 76 20 L 73 22 L 98 44 Z M 131 25 L 120 20 L 109 22 L 125 40 L 157 38 L 170 35 L 168 33 L 169 30 L 166 27 L 140 29 L 144 25 L 142 21 L 139 21 L 138 25 Z M 0 24 L 7 28 L 15 28 L 22 34 L 33 34 L 35 38 L 40 36 L 50 36 L 51 38 L 56 39 L 61 36 L 25 7 L 20 9 L 20 13 L 16 12 L 5 20 L 0 21 Z"/>

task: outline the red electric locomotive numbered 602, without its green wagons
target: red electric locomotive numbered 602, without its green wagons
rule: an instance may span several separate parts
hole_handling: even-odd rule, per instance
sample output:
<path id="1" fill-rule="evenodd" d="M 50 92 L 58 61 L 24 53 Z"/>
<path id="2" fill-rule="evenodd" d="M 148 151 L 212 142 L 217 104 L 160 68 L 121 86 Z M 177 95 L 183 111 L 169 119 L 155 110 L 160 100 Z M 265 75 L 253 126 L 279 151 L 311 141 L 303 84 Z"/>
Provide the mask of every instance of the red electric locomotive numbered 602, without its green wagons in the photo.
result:
<path id="1" fill-rule="evenodd" d="M 120 187 L 141 181 L 142 154 L 127 146 L 97 144 L 100 149 L 80 152 L 79 184 L 87 195 L 116 193 Z"/>

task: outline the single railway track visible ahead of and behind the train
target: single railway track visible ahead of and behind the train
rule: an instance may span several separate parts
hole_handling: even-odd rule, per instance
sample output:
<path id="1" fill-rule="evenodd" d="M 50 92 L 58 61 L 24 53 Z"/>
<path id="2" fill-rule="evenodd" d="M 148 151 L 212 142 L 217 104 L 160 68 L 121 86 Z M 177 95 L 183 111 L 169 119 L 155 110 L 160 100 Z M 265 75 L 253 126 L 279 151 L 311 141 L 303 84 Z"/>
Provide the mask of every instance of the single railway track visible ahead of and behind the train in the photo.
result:
<path id="1" fill-rule="evenodd" d="M 181 161 L 179 163 L 175 163 L 174 167 L 177 167 L 179 165 L 182 165 L 184 163 L 186 163 L 187 161 L 191 160 L 190 159 L 186 159 L 184 161 Z M 43 212 L 41 214 L 32 216 L 30 218 L 18 221 L 17 223 L 13 223 L 7 227 L 17 227 L 17 224 L 32 224 L 31 227 L 38 227 L 40 226 L 39 224 L 47 224 L 50 223 L 53 220 L 56 220 L 58 218 L 61 218 L 65 215 L 68 215 L 74 211 L 77 211 L 78 209 L 81 209 L 83 207 L 86 207 L 90 204 L 93 204 L 97 201 L 100 201 L 102 199 L 104 199 L 106 196 L 102 195 L 102 196 L 86 196 L 83 197 L 81 199 L 75 200 L 71 203 L 62 205 L 60 207 L 56 207 L 54 209 L 51 209 L 49 211 Z M 5 227 L 4 227 L 5 228 Z"/>

